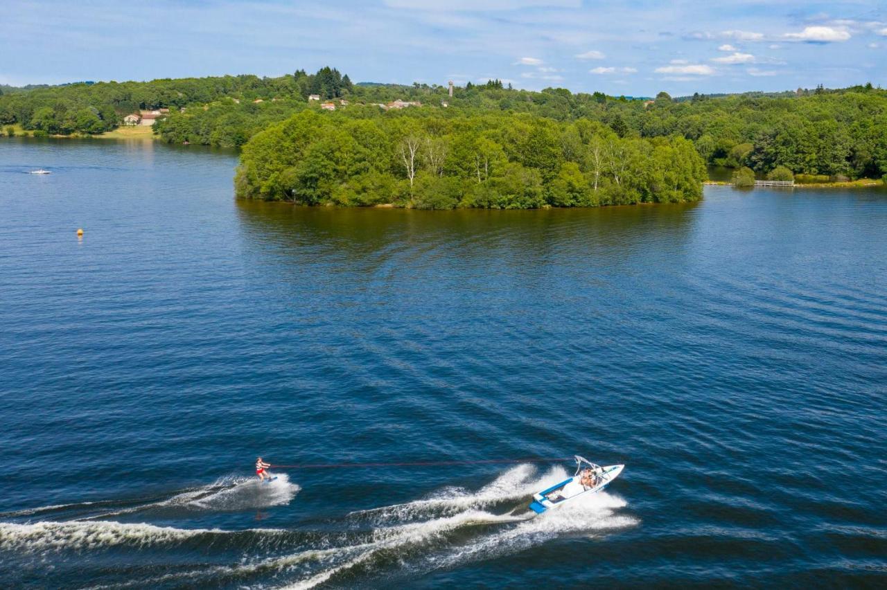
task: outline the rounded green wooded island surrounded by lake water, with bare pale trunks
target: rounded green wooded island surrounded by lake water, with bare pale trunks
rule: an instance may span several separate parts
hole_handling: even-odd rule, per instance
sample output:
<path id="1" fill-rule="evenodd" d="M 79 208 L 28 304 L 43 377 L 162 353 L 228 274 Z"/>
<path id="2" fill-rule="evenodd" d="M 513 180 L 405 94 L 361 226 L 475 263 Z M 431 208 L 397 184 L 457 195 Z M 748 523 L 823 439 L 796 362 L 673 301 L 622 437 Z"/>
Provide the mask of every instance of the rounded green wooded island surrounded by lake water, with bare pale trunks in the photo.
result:
<path id="1" fill-rule="evenodd" d="M 240 198 L 424 209 L 693 201 L 703 159 L 679 136 L 619 137 L 529 113 L 298 113 L 242 151 Z"/>

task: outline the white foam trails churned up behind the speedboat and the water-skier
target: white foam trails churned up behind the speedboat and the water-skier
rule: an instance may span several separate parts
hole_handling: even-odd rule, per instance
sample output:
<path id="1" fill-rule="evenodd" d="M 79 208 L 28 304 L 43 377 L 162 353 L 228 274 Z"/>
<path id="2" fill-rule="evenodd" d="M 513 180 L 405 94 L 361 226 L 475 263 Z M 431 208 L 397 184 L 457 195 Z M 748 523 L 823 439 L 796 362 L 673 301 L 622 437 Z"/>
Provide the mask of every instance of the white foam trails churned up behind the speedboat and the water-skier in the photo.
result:
<path id="1" fill-rule="evenodd" d="M 347 520 L 370 524 L 371 531 L 330 535 L 310 547 L 301 547 L 290 555 L 279 555 L 253 561 L 244 556 L 241 563 L 216 565 L 192 571 L 169 573 L 159 578 L 141 579 L 141 583 L 164 583 L 174 579 L 208 582 L 212 578 L 263 576 L 282 574 L 301 578 L 290 588 L 323 584 L 336 574 L 358 568 L 372 571 L 373 560 L 389 563 L 392 556 L 402 567 L 413 571 L 433 571 L 460 563 L 490 559 L 536 546 L 561 535 L 599 534 L 638 524 L 632 516 L 617 514 L 626 502 L 609 493 L 585 494 L 579 498 L 535 516 L 526 508 L 530 495 L 568 477 L 562 468 L 546 471 L 541 476 L 531 465 L 520 465 L 496 477 L 475 492 L 446 488 L 419 501 L 354 512 Z M 231 485 L 231 482 L 224 485 Z M 218 485 L 179 493 L 167 501 L 150 506 L 175 505 L 196 509 L 240 509 L 257 505 L 273 505 L 291 501 L 299 490 L 281 477 L 271 484 L 235 481 L 218 489 Z M 521 508 L 511 514 L 495 514 L 498 506 L 505 509 L 521 501 Z M 144 509 L 140 507 L 139 509 Z M 517 514 L 514 514 L 517 513 Z M 362 526 L 360 527 L 363 528 Z M 453 535 L 465 530 L 469 540 Z M 279 529 L 254 529 L 263 535 L 287 535 Z M 474 531 L 474 532 L 473 532 Z M 472 533 L 473 532 L 473 533 Z M 218 529 L 183 530 L 152 524 L 121 524 L 113 521 L 44 522 L 35 524 L 0 523 L 0 550 L 20 549 L 51 551 L 90 549 L 130 545 L 152 547 L 174 545 L 197 535 L 229 535 Z M 459 542 L 459 545 L 454 545 Z M 201 541 L 202 544 L 202 541 Z M 338 545 L 338 546 L 337 546 Z M 258 557 L 258 555 L 256 555 Z M 137 585 L 136 585 L 137 586 Z"/>

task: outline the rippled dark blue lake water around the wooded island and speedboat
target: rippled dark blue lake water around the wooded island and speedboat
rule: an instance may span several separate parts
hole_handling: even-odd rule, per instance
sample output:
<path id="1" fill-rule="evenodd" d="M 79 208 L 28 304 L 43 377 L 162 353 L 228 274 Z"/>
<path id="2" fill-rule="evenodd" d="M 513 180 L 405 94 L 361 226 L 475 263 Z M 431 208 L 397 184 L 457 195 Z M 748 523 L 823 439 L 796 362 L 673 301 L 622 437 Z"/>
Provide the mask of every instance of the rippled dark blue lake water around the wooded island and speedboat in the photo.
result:
<path id="1" fill-rule="evenodd" d="M 887 581 L 884 190 L 304 208 L 236 161 L 0 140 L 4 586 Z M 626 467 L 530 517 L 573 454 Z"/>

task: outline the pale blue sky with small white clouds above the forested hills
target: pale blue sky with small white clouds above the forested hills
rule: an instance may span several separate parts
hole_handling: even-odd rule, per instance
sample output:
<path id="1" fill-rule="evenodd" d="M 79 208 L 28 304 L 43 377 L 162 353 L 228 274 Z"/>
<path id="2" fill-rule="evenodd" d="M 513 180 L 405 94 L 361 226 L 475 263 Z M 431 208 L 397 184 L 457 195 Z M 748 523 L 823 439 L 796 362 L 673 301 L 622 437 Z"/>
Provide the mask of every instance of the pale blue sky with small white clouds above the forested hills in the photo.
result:
<path id="1" fill-rule="evenodd" d="M 887 87 L 887 0 L 4 0 L 0 83 L 279 76 L 673 96 Z"/>

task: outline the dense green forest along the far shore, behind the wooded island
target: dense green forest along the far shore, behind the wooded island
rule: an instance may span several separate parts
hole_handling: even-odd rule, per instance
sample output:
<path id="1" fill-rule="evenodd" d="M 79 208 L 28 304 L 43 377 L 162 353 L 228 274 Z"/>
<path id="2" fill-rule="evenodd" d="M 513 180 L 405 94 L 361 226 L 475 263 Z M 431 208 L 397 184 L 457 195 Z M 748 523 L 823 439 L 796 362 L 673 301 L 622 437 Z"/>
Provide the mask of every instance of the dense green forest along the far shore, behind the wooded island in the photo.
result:
<path id="1" fill-rule="evenodd" d="M 171 143 L 239 147 L 265 128 L 302 111 L 320 111 L 322 99 L 336 100 L 338 118 L 393 117 L 380 105 L 402 99 L 421 103 L 411 116 L 464 120 L 482 115 L 525 114 L 559 123 L 590 120 L 619 138 L 681 136 L 693 142 L 709 165 L 749 167 L 766 174 L 785 167 L 795 175 L 822 178 L 887 174 L 887 91 L 871 84 L 849 89 L 798 89 L 773 95 L 747 93 L 672 99 L 608 97 L 539 92 L 501 82 L 466 84 L 448 96 L 443 85 L 353 84 L 329 67 L 276 78 L 253 75 L 155 80 L 82 82 L 64 86 L 4 88 L 0 125 L 18 124 L 36 135 L 98 134 L 140 109 L 166 107 L 155 132 Z M 445 105 L 445 106 L 444 106 Z"/>

